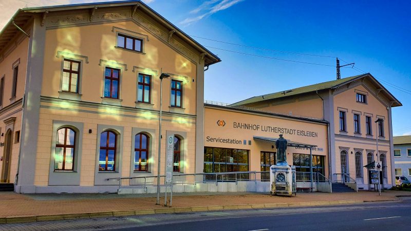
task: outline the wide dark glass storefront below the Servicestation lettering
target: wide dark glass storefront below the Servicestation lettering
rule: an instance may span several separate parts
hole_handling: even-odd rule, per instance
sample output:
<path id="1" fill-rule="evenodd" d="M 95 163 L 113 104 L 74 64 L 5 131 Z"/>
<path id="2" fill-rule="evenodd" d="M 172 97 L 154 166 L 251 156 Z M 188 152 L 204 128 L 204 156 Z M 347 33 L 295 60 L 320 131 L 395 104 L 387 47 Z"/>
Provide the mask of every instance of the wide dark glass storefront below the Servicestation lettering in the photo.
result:
<path id="1" fill-rule="evenodd" d="M 204 172 L 248 171 L 249 150 L 204 147 Z"/>

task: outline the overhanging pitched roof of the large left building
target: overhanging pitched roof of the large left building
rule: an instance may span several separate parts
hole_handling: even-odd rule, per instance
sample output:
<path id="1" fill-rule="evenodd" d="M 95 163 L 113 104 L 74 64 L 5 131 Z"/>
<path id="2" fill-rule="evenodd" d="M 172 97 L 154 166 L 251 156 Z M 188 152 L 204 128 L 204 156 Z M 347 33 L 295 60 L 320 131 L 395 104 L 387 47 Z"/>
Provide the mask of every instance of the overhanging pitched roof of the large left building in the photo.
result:
<path id="1" fill-rule="evenodd" d="M 218 62 L 221 62 L 220 58 L 209 51 L 207 48 L 203 47 L 194 38 L 190 37 L 188 34 L 184 33 L 182 30 L 177 28 L 174 24 L 166 20 L 159 13 L 154 11 L 152 8 L 148 7 L 146 4 L 140 0 L 125 0 L 125 1 L 115 1 L 115 2 L 99 2 L 99 3 L 82 3 L 82 4 L 69 4 L 69 5 L 54 5 L 45 7 L 32 7 L 18 9 L 17 12 L 12 16 L 10 21 L 4 26 L 0 31 L 0 52 L 6 45 L 12 40 L 14 36 L 12 34 L 17 33 L 17 28 L 13 25 L 16 23 L 18 27 L 23 28 L 23 26 L 29 21 L 30 17 L 34 14 L 53 11 L 65 11 L 65 10 L 79 10 L 79 9 L 93 9 L 93 8 L 104 8 L 104 7 L 120 7 L 120 6 L 136 6 L 139 5 L 139 9 L 144 9 L 145 13 L 148 13 L 153 18 L 156 18 L 160 23 L 165 25 L 165 27 L 170 28 L 170 30 L 175 30 L 176 32 L 173 36 L 179 36 L 183 41 L 193 46 L 199 52 L 206 53 L 204 56 L 204 65 L 209 66 Z M 7 38 L 7 39 L 5 39 Z"/>

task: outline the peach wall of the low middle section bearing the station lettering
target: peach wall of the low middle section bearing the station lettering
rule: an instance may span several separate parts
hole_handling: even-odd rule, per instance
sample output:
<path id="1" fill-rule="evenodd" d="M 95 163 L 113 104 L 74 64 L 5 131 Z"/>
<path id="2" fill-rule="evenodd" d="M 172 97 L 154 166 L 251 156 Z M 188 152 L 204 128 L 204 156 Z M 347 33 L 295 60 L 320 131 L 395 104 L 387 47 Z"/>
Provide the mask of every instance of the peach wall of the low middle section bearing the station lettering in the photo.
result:
<path id="1" fill-rule="evenodd" d="M 325 124 L 211 107 L 205 108 L 204 115 L 204 147 L 250 150 L 250 171 L 260 171 L 260 151 L 276 152 L 275 143 L 253 139 L 254 136 L 278 138 L 279 132 L 265 131 L 267 126 L 271 126 L 289 129 L 290 132 L 287 133 L 284 130 L 285 132 L 283 133 L 284 138 L 287 140 L 316 145 L 320 149 L 322 148 L 322 151 L 318 148 L 313 150 L 312 155 L 325 156 L 324 159 L 326 163 L 324 167 L 326 176 L 328 175 L 328 137 L 327 125 Z M 219 126 L 217 121 L 224 121 L 226 125 Z M 255 129 L 235 128 L 234 123 L 253 124 L 255 125 Z M 302 131 L 305 133 L 308 131 L 315 132 L 316 137 L 303 136 L 301 134 Z M 211 142 L 211 138 L 235 139 L 241 141 L 241 144 Z M 246 140 L 246 145 L 243 143 L 244 140 Z M 249 141 L 251 141 L 251 145 L 249 145 Z M 272 145 L 274 145 L 274 148 L 272 148 Z M 293 153 L 309 154 L 310 151 L 308 149 L 287 147 L 287 162 L 289 165 L 293 164 Z"/>

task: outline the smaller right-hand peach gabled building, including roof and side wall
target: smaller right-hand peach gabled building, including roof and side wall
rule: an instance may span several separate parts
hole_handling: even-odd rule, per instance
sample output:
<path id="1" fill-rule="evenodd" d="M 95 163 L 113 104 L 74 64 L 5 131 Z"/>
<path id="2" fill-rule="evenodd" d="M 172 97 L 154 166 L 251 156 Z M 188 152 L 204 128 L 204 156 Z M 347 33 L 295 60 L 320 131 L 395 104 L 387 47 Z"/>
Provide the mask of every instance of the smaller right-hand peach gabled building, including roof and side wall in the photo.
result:
<path id="1" fill-rule="evenodd" d="M 330 179 L 338 180 L 344 173 L 357 181 L 359 189 L 368 189 L 363 166 L 382 161 L 385 187 L 395 185 L 391 108 L 402 104 L 369 73 L 260 95 L 231 106 L 326 120 Z M 375 123 L 378 119 L 383 122 Z"/>

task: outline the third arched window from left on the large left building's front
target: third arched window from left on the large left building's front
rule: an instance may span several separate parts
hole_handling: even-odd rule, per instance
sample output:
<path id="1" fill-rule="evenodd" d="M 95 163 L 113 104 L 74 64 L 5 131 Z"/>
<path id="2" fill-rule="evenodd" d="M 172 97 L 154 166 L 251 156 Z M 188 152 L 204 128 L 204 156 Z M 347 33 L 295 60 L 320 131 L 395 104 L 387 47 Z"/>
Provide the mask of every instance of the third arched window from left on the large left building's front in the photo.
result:
<path id="1" fill-rule="evenodd" d="M 136 134 L 134 141 L 134 171 L 147 171 L 149 139 L 146 134 Z"/>

